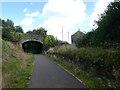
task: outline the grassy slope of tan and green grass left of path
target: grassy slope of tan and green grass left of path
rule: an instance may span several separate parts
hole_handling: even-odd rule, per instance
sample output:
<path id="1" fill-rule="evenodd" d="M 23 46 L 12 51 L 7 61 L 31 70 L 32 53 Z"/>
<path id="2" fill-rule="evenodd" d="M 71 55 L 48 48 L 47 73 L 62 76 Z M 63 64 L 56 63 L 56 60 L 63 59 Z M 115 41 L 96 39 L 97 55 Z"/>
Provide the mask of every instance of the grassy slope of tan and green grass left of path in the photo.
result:
<path id="1" fill-rule="evenodd" d="M 26 88 L 32 73 L 34 56 L 24 53 L 20 47 L 2 41 L 2 87 Z"/>

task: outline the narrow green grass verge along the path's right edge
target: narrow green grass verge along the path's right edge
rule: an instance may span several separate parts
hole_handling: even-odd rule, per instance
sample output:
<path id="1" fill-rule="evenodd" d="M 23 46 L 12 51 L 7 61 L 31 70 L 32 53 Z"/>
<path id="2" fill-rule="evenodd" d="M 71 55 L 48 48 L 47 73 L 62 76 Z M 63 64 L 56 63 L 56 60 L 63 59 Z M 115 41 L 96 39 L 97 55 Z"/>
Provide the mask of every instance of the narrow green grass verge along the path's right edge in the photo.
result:
<path id="1" fill-rule="evenodd" d="M 61 60 L 56 57 L 46 55 L 50 60 L 61 66 L 63 69 L 68 71 L 74 77 L 76 77 L 79 81 L 81 81 L 88 88 L 105 88 L 105 83 L 98 77 L 91 76 L 89 73 L 78 70 L 77 65 L 74 63 L 70 63 L 65 60 Z"/>

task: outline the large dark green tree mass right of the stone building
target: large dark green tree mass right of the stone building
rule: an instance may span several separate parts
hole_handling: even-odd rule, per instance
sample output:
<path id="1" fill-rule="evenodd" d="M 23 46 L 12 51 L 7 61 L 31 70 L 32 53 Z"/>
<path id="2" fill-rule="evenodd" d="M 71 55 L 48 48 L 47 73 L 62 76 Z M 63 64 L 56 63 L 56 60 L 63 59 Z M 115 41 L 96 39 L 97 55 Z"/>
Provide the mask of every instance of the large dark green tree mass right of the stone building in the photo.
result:
<path id="1" fill-rule="evenodd" d="M 77 40 L 78 47 L 120 48 L 120 1 L 112 2 L 96 21 L 97 28 Z"/>

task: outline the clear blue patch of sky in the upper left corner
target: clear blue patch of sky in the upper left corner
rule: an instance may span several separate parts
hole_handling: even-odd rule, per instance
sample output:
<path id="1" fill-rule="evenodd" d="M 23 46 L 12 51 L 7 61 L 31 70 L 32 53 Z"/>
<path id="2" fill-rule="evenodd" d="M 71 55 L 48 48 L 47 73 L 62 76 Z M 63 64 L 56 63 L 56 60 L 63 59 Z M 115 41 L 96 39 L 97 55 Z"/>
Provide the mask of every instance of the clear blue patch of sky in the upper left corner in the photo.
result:
<path id="1" fill-rule="evenodd" d="M 42 12 L 45 2 L 3 2 L 2 3 L 2 18 L 11 19 L 15 25 L 21 25 L 22 19 L 25 17 L 24 9 L 27 8 L 28 13 L 34 11 Z M 36 20 L 36 24 L 41 23 L 42 21 Z M 32 25 L 34 26 L 34 25 Z"/>

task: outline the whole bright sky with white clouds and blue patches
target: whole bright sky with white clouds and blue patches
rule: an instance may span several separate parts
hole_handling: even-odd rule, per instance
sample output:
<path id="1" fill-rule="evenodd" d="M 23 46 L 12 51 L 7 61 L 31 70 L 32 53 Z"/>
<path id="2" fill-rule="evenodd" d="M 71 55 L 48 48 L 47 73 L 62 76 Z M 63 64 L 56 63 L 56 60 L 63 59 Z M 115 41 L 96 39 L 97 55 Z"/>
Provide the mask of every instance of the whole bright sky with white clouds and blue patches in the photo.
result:
<path id="1" fill-rule="evenodd" d="M 98 20 L 98 15 L 104 12 L 111 1 L 113 0 L 3 0 L 0 18 L 12 20 L 15 26 L 22 26 L 24 32 L 44 27 L 48 35 L 60 40 L 63 29 L 63 40 L 71 43 L 71 35 L 78 29 L 87 33 L 95 28 L 94 20 Z"/>

